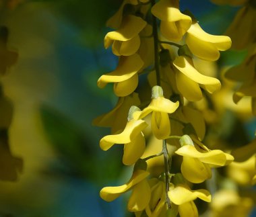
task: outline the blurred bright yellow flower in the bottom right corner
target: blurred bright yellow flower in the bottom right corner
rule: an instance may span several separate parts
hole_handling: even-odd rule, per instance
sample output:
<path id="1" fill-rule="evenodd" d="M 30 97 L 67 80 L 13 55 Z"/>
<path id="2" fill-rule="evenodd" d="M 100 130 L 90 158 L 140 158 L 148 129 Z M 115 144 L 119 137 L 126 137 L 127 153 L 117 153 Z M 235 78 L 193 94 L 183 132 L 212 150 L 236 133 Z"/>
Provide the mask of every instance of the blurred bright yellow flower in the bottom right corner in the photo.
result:
<path id="1" fill-rule="evenodd" d="M 247 217 L 253 208 L 251 198 L 241 198 L 236 191 L 217 191 L 211 203 L 212 217 Z"/>

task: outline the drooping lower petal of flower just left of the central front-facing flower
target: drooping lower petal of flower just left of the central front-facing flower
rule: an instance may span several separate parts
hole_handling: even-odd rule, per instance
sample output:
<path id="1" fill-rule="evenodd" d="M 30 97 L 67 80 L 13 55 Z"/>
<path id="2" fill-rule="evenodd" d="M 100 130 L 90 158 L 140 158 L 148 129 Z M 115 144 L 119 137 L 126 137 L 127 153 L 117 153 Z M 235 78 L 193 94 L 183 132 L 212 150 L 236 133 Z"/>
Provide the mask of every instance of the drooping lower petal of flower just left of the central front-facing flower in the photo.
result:
<path id="1" fill-rule="evenodd" d="M 123 148 L 123 164 L 133 165 L 144 153 L 146 141 L 142 134 L 138 134 L 134 140 L 125 144 Z"/>

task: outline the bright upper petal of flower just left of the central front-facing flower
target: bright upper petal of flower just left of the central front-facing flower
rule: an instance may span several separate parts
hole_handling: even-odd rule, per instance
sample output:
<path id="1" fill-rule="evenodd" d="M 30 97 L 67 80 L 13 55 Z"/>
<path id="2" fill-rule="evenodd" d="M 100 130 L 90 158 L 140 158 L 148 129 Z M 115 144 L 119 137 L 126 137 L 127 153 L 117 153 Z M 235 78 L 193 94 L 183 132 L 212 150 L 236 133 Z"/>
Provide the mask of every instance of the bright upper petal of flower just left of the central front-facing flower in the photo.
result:
<path id="1" fill-rule="evenodd" d="M 148 124 L 143 120 L 130 120 L 121 134 L 104 136 L 100 140 L 100 148 L 108 150 L 113 144 L 129 143 L 147 126 Z"/>

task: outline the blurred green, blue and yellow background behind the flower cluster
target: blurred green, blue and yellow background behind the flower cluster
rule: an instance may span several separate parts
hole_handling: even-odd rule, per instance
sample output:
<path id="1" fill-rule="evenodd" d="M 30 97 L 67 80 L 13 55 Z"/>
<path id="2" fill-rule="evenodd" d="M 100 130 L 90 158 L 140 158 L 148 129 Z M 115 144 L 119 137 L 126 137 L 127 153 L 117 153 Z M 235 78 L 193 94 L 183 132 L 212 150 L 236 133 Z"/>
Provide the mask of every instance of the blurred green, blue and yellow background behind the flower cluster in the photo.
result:
<path id="1" fill-rule="evenodd" d="M 111 85 L 98 89 L 96 81 L 117 65 L 103 39 L 106 20 L 120 5 L 0 0 L 0 116 L 9 117 L 1 126 L 0 165 L 9 167 L 0 172 L 0 216 L 129 216 L 124 197 L 111 203 L 99 197 L 102 187 L 129 179 L 131 168 L 121 164 L 121 147 L 100 150 L 110 130 L 92 126 L 117 102 Z M 238 10 L 206 0 L 183 0 L 183 9 L 211 34 L 223 34 Z M 218 67 L 245 54 L 225 53 Z M 255 120 L 241 128 L 243 142 L 250 140 Z"/>

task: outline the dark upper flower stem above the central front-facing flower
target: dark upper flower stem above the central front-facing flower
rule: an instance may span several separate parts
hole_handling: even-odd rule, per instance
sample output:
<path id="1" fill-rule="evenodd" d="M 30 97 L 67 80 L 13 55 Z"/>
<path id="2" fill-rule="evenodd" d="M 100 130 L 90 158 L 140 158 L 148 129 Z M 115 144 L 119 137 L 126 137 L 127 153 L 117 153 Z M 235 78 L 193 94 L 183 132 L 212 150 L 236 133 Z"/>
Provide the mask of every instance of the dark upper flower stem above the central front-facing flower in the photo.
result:
<path id="1" fill-rule="evenodd" d="M 155 4 L 155 0 L 151 0 L 152 6 Z M 160 86 L 160 67 L 159 67 L 159 54 L 158 54 L 158 24 L 156 21 L 156 17 L 152 14 L 152 22 L 153 22 L 153 36 L 154 36 L 154 58 L 155 58 L 155 69 L 156 69 L 156 84 Z"/>

